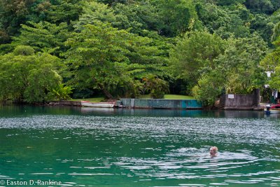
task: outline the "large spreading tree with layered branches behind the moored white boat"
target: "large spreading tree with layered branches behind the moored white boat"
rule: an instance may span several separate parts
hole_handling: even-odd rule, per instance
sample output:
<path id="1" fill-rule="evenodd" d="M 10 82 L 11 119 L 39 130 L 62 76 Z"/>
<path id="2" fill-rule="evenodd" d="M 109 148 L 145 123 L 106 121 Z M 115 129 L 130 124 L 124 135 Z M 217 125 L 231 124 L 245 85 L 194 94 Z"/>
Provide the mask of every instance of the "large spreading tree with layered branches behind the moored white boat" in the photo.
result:
<path id="1" fill-rule="evenodd" d="M 70 47 L 66 57 L 73 73 L 69 84 L 80 90 L 102 90 L 107 98 L 112 98 L 118 88 L 132 83 L 137 83 L 135 86 L 139 88 L 136 80 L 147 73 L 163 74 L 164 71 L 165 57 L 152 43 L 152 39 L 109 24 L 85 25 L 66 42 Z"/>

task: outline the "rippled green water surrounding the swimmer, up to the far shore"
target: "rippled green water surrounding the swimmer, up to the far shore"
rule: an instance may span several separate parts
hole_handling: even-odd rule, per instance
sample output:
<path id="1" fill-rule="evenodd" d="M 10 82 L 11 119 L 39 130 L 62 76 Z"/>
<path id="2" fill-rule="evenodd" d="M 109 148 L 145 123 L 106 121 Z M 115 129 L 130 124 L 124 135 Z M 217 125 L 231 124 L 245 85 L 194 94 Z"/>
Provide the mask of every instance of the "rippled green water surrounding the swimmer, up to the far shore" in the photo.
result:
<path id="1" fill-rule="evenodd" d="M 210 146 L 218 146 L 216 157 Z M 0 106 L 0 186 L 31 186 L 31 180 L 61 183 L 45 186 L 280 186 L 280 116 Z"/>

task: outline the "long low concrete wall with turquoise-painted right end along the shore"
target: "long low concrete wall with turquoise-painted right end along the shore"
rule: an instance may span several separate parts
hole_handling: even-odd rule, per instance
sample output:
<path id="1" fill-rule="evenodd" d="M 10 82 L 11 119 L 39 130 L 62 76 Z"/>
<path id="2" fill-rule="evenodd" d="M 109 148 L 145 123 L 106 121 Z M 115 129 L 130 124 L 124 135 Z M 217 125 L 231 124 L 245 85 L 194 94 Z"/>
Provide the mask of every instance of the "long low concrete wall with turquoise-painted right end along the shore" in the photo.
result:
<path id="1" fill-rule="evenodd" d="M 195 99 L 120 99 L 123 106 L 143 109 L 202 109 Z"/>

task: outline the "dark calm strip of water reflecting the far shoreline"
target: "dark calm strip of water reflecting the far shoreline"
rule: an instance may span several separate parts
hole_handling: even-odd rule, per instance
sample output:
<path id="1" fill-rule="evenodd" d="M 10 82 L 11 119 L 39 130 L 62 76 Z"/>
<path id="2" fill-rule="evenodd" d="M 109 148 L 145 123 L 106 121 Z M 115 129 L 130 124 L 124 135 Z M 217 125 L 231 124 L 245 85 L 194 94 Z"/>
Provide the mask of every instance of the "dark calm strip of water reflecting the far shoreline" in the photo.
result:
<path id="1" fill-rule="evenodd" d="M 90 115 L 90 116 L 166 116 L 200 118 L 280 118 L 280 113 L 269 116 L 262 111 L 203 111 L 171 109 L 112 109 L 65 106 L 1 106 L 0 117 L 46 115 Z"/>

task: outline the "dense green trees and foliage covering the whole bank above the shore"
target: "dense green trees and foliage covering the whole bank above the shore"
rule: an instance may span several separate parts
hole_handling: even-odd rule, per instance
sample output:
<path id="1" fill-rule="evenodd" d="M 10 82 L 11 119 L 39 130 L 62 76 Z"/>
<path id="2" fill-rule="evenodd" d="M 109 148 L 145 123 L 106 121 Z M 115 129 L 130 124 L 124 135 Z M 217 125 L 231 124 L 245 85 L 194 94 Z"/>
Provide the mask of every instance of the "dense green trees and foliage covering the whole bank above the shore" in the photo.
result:
<path id="1" fill-rule="evenodd" d="M 0 99 L 280 89 L 279 0 L 0 0 Z M 269 80 L 265 71 L 272 71 Z"/>

